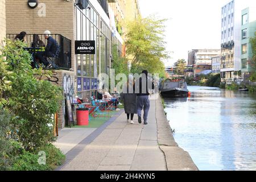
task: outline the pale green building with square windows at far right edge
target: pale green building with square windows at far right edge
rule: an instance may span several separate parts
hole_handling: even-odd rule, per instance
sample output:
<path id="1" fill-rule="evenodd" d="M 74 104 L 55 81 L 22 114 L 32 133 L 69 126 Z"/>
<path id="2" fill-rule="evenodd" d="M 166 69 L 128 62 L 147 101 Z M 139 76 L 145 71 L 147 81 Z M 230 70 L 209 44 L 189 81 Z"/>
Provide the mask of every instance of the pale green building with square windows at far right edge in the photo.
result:
<path id="1" fill-rule="evenodd" d="M 251 68 L 248 61 L 251 59 L 251 57 L 253 57 L 250 38 L 255 37 L 256 32 L 256 6 L 243 9 L 241 17 L 241 71 L 243 80 L 247 80 L 250 72 L 255 71 L 253 68 Z"/>

